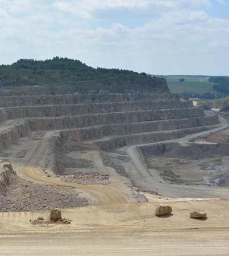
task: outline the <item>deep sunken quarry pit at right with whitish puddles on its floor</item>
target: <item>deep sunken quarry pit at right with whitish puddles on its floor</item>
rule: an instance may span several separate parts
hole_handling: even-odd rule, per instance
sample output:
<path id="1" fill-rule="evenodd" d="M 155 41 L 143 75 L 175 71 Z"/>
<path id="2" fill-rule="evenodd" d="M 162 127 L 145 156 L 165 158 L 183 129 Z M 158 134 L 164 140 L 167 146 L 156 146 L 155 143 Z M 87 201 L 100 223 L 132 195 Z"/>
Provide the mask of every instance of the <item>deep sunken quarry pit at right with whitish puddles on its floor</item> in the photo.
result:
<path id="1" fill-rule="evenodd" d="M 180 143 L 140 147 L 145 163 L 170 184 L 228 187 L 229 144 Z"/>

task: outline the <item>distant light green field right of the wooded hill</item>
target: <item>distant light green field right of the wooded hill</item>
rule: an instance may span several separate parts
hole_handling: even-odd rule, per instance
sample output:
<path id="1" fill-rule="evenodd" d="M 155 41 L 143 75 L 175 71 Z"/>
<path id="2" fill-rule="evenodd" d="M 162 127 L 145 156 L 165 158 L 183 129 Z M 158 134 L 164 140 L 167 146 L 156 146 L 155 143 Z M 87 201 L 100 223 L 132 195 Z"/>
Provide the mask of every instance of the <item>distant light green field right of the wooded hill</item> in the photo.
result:
<path id="1" fill-rule="evenodd" d="M 167 76 L 165 78 L 172 93 L 215 93 L 214 84 L 208 81 L 208 77 Z M 180 82 L 181 78 L 185 81 Z"/>

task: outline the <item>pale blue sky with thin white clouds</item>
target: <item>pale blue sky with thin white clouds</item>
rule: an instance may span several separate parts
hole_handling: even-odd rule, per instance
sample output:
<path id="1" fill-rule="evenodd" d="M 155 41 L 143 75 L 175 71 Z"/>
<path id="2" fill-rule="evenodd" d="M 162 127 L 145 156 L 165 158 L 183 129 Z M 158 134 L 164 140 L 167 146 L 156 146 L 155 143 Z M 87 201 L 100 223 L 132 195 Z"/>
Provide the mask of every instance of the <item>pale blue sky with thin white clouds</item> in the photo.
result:
<path id="1" fill-rule="evenodd" d="M 229 75 L 229 0 L 0 0 L 0 64 Z"/>

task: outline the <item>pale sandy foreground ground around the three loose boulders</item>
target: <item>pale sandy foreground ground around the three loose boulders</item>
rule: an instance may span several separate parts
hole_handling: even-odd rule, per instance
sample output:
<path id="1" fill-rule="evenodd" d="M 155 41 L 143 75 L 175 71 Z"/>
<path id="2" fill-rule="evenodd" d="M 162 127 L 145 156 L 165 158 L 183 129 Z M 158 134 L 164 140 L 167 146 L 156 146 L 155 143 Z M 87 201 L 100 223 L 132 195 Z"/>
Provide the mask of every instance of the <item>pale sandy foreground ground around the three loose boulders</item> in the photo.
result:
<path id="1" fill-rule="evenodd" d="M 228 255 L 229 203 L 226 200 L 165 200 L 65 209 L 70 225 L 32 225 L 48 212 L 1 213 L 0 255 Z M 158 218 L 158 203 L 173 215 Z M 206 210 L 206 221 L 189 218 Z"/>

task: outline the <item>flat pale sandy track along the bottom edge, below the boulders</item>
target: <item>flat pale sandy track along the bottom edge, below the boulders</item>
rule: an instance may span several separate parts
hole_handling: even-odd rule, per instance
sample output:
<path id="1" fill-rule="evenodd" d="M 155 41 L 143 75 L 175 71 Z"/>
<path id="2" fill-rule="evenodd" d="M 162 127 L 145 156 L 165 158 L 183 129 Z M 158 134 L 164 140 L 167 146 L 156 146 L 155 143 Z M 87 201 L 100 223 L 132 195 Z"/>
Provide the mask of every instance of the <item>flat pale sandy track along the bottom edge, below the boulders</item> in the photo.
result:
<path id="1" fill-rule="evenodd" d="M 141 236 L 54 236 L 1 238 L 0 255 L 228 256 L 228 234 L 210 231 Z M 201 237 L 201 239 L 200 239 Z M 36 242 L 34 242 L 36 241 Z"/>

